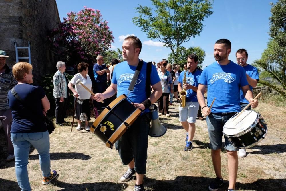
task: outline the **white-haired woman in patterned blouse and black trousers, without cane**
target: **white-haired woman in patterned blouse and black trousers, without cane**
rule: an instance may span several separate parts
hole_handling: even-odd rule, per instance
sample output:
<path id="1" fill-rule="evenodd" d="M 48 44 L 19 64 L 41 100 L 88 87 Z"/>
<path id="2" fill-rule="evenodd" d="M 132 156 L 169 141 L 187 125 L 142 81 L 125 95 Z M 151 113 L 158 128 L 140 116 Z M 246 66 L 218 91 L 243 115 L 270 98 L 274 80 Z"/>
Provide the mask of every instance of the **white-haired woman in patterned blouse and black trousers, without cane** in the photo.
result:
<path id="1" fill-rule="evenodd" d="M 53 96 L 55 98 L 55 118 L 56 124 L 60 126 L 65 125 L 65 115 L 67 112 L 67 100 L 69 96 L 69 89 L 67 84 L 69 80 L 65 75 L 65 63 L 62 61 L 57 62 L 57 72 L 53 76 Z"/>

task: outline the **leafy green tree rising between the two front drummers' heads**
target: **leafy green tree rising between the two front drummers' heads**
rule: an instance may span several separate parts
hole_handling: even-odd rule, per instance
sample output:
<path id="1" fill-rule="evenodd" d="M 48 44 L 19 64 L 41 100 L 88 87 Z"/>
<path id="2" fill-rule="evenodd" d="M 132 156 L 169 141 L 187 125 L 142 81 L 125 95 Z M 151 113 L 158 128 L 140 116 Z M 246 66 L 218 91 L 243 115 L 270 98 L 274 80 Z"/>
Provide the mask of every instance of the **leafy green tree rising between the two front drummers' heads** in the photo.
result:
<path id="1" fill-rule="evenodd" d="M 147 33 L 147 37 L 165 43 L 174 54 L 178 63 L 180 45 L 191 37 L 200 35 L 205 17 L 212 15 L 211 0 L 151 0 L 156 7 L 153 16 L 152 8 L 139 5 L 134 9 L 139 13 L 133 17 L 133 23 Z"/>

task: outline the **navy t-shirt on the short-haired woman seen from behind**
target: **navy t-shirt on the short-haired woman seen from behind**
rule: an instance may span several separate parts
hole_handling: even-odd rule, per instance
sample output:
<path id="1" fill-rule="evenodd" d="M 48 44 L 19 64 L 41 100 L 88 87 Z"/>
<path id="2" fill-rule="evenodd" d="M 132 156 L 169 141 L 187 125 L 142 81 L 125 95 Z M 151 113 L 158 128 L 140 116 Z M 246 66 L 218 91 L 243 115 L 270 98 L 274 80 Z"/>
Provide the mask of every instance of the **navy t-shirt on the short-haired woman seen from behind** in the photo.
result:
<path id="1" fill-rule="evenodd" d="M 11 90 L 8 92 L 8 104 L 13 118 L 11 133 L 47 131 L 42 113 L 42 98 L 45 97 L 43 88 L 26 83 L 18 84 L 14 88 L 22 101 L 17 100 Z"/>

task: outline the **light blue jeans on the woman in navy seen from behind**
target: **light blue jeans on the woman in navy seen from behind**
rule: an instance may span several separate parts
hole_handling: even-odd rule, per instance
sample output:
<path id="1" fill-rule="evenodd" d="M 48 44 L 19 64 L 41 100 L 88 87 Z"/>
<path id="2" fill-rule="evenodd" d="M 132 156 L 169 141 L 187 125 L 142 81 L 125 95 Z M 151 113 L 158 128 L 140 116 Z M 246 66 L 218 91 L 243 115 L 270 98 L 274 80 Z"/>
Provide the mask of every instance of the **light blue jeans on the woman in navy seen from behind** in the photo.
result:
<path id="1" fill-rule="evenodd" d="M 31 190 L 27 169 L 31 145 L 39 153 L 42 175 L 45 177 L 51 175 L 49 132 L 11 133 L 11 141 L 14 146 L 15 171 L 18 185 L 22 191 Z"/>

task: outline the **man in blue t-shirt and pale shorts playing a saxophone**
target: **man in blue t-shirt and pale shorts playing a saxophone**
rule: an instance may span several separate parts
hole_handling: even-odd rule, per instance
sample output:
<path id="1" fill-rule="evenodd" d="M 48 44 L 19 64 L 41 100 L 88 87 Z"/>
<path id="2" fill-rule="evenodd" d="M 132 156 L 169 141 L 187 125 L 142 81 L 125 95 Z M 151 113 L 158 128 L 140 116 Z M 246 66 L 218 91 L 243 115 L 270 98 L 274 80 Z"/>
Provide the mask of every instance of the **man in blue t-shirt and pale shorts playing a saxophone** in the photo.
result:
<path id="1" fill-rule="evenodd" d="M 198 79 L 202 73 L 197 69 L 198 56 L 190 54 L 187 58 L 187 70 L 180 73 L 178 91 L 180 93 L 179 116 L 183 128 L 187 132 L 185 151 L 193 148 L 193 138 L 196 131 L 196 116 L 199 103 L 197 99 Z M 186 91 L 186 92 L 184 92 Z"/>

